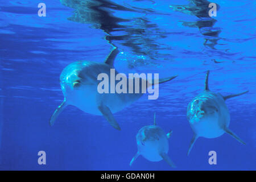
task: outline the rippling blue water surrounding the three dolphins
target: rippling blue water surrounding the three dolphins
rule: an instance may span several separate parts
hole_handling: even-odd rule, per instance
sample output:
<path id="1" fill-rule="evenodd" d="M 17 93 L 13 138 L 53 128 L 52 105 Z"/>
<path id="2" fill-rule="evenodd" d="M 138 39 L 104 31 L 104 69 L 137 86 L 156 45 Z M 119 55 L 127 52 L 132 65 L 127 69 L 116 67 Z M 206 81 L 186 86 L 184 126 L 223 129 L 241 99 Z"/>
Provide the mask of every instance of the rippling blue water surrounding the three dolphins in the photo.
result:
<path id="1" fill-rule="evenodd" d="M 0 1 L 0 169 L 2 170 L 255 170 L 256 169 L 256 2 L 214 1 Z M 170 5 L 172 5 L 170 7 Z M 175 5 L 175 6 L 174 6 Z M 158 100 L 144 95 L 114 114 L 121 131 L 102 116 L 68 106 L 49 126 L 63 101 L 59 76 L 77 60 L 103 62 L 112 46 L 121 53 L 121 73 L 179 75 L 160 85 Z M 204 89 L 222 95 L 250 90 L 226 101 L 228 134 L 199 138 L 187 156 L 193 132 L 187 105 Z M 153 123 L 167 133 L 168 155 L 177 168 L 137 152 L 135 136 Z M 217 164 L 209 165 L 209 151 Z M 46 151 L 46 165 L 38 164 Z"/>

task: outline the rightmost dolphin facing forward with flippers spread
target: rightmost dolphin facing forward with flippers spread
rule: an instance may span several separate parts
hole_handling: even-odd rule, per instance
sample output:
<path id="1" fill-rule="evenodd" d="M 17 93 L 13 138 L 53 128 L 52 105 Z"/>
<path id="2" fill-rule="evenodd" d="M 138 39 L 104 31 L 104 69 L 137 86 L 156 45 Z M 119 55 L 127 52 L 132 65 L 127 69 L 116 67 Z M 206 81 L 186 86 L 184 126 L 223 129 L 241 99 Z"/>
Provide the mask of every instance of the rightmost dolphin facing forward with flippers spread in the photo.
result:
<path id="1" fill-rule="evenodd" d="M 224 133 L 228 133 L 237 139 L 238 142 L 245 144 L 228 128 L 230 114 L 225 101 L 232 97 L 241 96 L 249 91 L 222 96 L 220 93 L 214 93 L 209 90 L 208 77 L 209 71 L 207 71 L 205 78 L 204 92 L 193 98 L 187 107 L 187 119 L 194 133 L 187 155 L 189 155 L 193 144 L 199 137 L 217 138 Z"/>

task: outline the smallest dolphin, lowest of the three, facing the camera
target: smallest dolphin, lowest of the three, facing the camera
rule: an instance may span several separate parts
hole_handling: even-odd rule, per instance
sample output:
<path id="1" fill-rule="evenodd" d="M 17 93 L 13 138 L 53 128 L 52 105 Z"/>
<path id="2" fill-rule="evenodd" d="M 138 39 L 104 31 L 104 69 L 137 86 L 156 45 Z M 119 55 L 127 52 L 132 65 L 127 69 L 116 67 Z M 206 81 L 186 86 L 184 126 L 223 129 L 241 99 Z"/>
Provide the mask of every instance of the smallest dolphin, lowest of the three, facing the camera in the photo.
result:
<path id="1" fill-rule="evenodd" d="M 142 127 L 136 136 L 138 152 L 131 159 L 130 166 L 139 155 L 142 155 L 152 162 L 158 162 L 164 159 L 171 167 L 176 167 L 167 155 L 169 150 L 168 139 L 171 137 L 171 134 L 172 130 L 165 134 L 159 126 L 156 126 L 154 114 L 154 125 Z"/>

